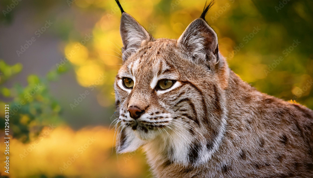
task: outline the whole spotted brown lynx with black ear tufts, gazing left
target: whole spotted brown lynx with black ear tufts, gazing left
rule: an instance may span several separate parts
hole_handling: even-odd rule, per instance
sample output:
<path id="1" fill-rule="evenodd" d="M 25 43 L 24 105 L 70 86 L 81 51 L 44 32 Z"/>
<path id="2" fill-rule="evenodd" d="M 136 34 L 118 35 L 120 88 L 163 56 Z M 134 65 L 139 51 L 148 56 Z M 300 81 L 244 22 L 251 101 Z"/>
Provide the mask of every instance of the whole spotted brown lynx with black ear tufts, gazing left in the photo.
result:
<path id="1" fill-rule="evenodd" d="M 313 177 L 313 111 L 257 91 L 228 68 L 201 16 L 155 39 L 121 9 L 116 151 L 142 148 L 158 178 Z"/>

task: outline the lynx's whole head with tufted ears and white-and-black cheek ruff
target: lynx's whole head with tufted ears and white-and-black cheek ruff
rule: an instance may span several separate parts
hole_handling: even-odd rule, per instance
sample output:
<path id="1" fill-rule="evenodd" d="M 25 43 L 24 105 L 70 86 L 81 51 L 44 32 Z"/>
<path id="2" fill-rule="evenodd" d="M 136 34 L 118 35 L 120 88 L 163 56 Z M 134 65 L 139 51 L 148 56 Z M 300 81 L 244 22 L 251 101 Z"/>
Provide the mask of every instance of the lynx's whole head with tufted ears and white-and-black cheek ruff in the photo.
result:
<path id="1" fill-rule="evenodd" d="M 218 147 L 228 66 L 204 18 L 212 5 L 178 40 L 153 38 L 120 7 L 124 65 L 115 80 L 117 152 L 156 143 L 171 161 L 197 163 Z"/>

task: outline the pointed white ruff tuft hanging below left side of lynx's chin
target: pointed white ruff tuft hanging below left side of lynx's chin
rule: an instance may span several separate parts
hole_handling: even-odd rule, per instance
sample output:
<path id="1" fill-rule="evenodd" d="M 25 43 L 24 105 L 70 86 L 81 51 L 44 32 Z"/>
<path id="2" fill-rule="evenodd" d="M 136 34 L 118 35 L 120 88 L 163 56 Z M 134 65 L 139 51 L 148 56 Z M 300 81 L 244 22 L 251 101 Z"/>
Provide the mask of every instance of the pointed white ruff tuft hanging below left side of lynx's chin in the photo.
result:
<path id="1" fill-rule="evenodd" d="M 145 144 L 130 128 L 125 128 L 121 131 L 119 139 L 116 140 L 116 152 L 117 153 L 127 153 L 136 151 L 139 147 Z"/>

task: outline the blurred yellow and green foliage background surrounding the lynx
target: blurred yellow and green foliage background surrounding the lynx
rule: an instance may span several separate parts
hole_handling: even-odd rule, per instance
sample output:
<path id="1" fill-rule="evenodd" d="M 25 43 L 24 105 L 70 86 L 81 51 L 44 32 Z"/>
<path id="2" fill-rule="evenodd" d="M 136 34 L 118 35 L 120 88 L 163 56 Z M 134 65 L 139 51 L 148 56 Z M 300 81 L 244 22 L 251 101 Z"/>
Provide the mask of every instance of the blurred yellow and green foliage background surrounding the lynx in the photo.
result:
<path id="1" fill-rule="evenodd" d="M 156 38 L 178 38 L 204 3 L 121 0 Z M 313 109 L 312 9 L 311 0 L 218 0 L 206 19 L 243 80 Z M 116 155 L 109 129 L 122 63 L 115 1 L 1 0 L 0 10 L 0 176 L 151 177 L 142 151 Z"/>

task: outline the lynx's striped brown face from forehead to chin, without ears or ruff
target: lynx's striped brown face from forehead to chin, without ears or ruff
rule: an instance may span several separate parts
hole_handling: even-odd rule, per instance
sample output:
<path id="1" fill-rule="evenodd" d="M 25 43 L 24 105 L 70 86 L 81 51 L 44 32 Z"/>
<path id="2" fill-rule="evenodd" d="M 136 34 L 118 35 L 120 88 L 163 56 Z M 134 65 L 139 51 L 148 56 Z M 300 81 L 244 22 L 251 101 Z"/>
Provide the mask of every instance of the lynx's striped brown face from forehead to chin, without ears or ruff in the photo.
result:
<path id="1" fill-rule="evenodd" d="M 197 85 L 211 86 L 214 95 L 209 68 L 185 59 L 176 43 L 169 39 L 147 42 L 126 60 L 117 75 L 121 124 L 141 140 L 160 137 L 160 129 L 182 127 L 196 132 L 207 114 L 202 109 L 206 96 Z M 197 79 L 199 75 L 203 79 Z M 133 84 L 127 87 L 129 79 Z"/>

